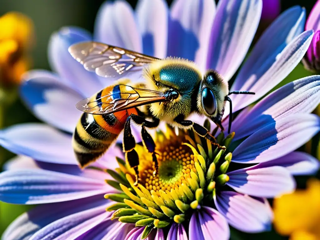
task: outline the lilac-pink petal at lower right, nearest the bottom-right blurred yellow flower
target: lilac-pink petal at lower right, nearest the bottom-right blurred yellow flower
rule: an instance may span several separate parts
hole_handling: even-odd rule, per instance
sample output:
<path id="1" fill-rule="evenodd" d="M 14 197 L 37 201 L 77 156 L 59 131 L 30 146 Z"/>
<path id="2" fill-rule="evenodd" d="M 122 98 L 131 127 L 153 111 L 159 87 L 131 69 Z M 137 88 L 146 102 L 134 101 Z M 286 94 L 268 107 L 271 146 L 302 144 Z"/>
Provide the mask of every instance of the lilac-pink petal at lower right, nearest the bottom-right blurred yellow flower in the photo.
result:
<path id="1" fill-rule="evenodd" d="M 273 214 L 267 199 L 222 191 L 214 196 L 214 203 L 228 223 L 240 231 L 257 233 L 271 229 Z"/>

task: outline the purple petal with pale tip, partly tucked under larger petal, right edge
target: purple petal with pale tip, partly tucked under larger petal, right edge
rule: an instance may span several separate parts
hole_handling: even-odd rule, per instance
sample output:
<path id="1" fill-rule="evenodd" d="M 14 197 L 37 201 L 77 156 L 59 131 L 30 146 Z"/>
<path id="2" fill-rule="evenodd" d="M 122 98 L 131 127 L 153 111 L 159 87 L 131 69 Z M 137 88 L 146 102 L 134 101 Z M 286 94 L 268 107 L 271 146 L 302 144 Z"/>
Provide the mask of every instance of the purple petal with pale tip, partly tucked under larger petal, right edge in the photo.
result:
<path id="1" fill-rule="evenodd" d="M 260 168 L 282 166 L 292 175 L 311 175 L 315 174 L 320 168 L 319 160 L 304 152 L 291 152 L 285 156 L 258 165 Z"/>

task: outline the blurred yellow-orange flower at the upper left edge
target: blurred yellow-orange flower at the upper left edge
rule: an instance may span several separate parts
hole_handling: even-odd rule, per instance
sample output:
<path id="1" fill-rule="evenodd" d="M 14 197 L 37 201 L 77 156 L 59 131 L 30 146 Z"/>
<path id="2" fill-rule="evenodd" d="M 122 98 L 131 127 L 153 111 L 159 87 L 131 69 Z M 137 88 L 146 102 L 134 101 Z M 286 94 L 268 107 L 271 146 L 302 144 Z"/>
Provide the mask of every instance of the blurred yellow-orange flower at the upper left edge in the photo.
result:
<path id="1" fill-rule="evenodd" d="M 34 28 L 27 16 L 8 12 L 0 17 L 0 29 L 0 84 L 10 86 L 18 84 L 29 68 Z"/>

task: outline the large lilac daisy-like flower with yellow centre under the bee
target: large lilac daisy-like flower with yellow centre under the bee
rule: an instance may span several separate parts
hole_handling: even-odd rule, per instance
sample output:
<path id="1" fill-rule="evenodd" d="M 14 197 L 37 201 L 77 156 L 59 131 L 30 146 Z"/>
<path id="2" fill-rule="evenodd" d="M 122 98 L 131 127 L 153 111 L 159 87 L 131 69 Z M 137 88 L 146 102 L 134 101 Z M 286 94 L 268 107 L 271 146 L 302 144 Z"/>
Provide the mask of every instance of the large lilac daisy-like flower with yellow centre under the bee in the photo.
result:
<path id="1" fill-rule="evenodd" d="M 159 58 L 188 58 L 229 80 L 247 54 L 261 8 L 261 0 L 220 0 L 217 8 L 211 0 L 177 0 L 169 10 L 162 0 L 141 0 L 133 12 L 123 1 L 105 3 L 93 39 Z M 111 82 L 85 71 L 68 53 L 71 44 L 92 39 L 89 33 L 71 27 L 55 33 L 49 58 L 58 74 L 34 70 L 21 86 L 23 100 L 47 124 L 0 131 L 3 147 L 25 155 L 6 164 L 7 171 L 0 174 L 0 200 L 39 204 L 12 222 L 3 239 L 223 240 L 229 238 L 228 225 L 246 232 L 268 230 L 272 212 L 266 198 L 292 191 L 293 174 L 319 168 L 315 158 L 295 149 L 320 129 L 319 117 L 310 114 L 320 102 L 320 76 L 296 80 L 265 96 L 307 52 L 313 31 L 303 32 L 304 23 L 305 11 L 299 6 L 282 13 L 239 70 L 231 90 L 256 95 L 231 95 L 233 111 L 243 110 L 232 125 L 235 135 L 224 138 L 219 133 L 217 141 L 231 144 L 232 153 L 216 151 L 190 132 L 177 136 L 171 128 L 162 129 L 155 135 L 159 153 L 172 156 L 175 151 L 181 163 L 164 157 L 159 162 L 176 178 L 167 179 L 168 184 L 160 183 L 163 175 L 155 183 L 145 178 L 139 188 L 132 186 L 131 169 L 116 158 L 123 157 L 116 145 L 95 168 L 78 168 L 71 132 L 81 113 L 74 106 Z M 225 125 L 229 112 L 225 109 Z M 204 123 L 199 116 L 194 119 Z M 140 168 L 148 176 L 148 154 L 140 148 L 137 152 L 145 158 Z"/>

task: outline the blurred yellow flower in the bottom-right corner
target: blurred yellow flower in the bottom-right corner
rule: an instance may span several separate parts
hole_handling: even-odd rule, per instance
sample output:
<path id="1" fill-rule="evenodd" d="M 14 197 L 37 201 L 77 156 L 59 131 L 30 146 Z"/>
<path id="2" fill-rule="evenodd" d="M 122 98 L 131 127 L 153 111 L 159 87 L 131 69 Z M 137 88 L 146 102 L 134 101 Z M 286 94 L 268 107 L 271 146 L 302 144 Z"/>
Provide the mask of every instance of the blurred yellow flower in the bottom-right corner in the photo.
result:
<path id="1" fill-rule="evenodd" d="M 320 181 L 311 179 L 306 190 L 274 200 L 274 225 L 290 240 L 320 240 Z"/>

